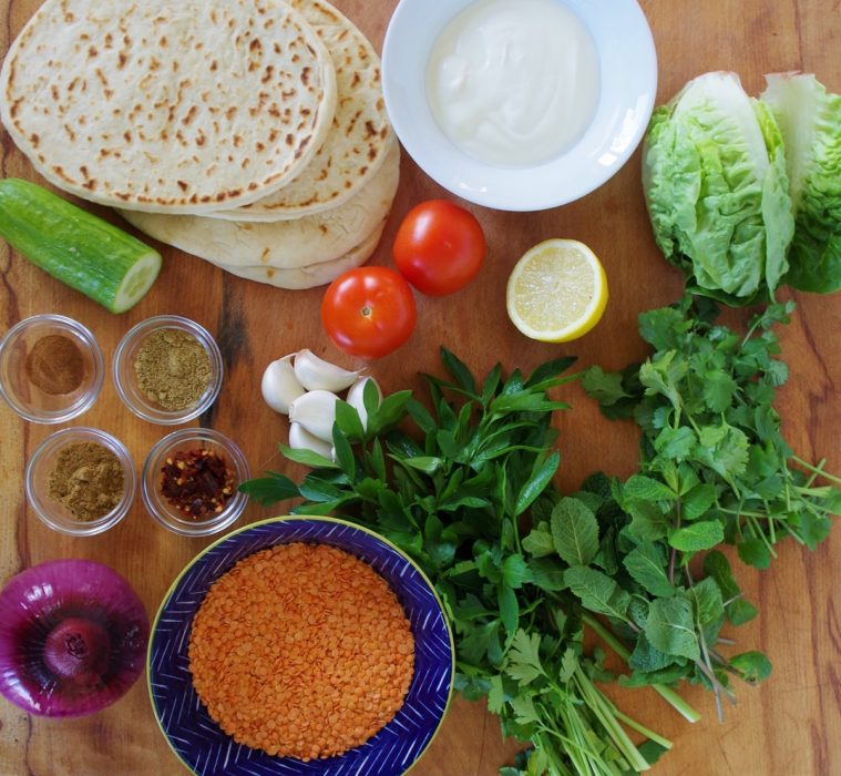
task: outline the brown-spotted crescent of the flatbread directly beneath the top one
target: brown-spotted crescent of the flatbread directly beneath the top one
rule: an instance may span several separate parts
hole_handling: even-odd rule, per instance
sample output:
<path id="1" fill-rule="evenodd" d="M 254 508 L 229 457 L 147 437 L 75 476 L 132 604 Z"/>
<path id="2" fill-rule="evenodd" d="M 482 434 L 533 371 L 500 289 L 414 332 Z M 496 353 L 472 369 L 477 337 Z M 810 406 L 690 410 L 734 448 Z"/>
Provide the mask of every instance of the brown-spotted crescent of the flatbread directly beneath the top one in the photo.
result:
<path id="1" fill-rule="evenodd" d="M 230 221 L 280 221 L 347 202 L 379 170 L 393 132 L 382 99 L 380 59 L 368 39 L 326 0 L 287 0 L 327 47 L 336 68 L 332 129 L 291 183 L 245 207 L 213 213 Z"/>

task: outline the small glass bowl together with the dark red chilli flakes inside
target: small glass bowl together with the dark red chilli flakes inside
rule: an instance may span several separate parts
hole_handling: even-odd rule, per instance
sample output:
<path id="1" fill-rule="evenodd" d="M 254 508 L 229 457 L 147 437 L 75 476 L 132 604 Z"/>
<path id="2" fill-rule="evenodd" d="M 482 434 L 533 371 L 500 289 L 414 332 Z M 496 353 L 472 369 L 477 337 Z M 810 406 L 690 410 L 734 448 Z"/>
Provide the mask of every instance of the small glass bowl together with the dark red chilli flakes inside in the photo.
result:
<path id="1" fill-rule="evenodd" d="M 211 428 L 184 428 L 150 450 L 141 474 L 141 497 L 164 528 L 184 537 L 206 537 L 229 528 L 247 497 L 237 488 L 248 479 L 239 447 Z"/>

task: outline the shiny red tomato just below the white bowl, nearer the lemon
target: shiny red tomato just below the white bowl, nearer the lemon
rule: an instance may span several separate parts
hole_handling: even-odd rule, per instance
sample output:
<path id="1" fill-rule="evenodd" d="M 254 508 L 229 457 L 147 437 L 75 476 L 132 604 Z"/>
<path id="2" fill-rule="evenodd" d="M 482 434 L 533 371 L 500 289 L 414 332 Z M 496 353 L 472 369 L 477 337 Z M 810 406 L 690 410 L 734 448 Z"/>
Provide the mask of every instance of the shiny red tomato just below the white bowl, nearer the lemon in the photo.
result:
<path id="1" fill-rule="evenodd" d="M 422 294 L 443 296 L 468 285 L 482 266 L 488 245 L 472 213 L 445 200 L 409 211 L 394 238 L 394 264 Z"/>

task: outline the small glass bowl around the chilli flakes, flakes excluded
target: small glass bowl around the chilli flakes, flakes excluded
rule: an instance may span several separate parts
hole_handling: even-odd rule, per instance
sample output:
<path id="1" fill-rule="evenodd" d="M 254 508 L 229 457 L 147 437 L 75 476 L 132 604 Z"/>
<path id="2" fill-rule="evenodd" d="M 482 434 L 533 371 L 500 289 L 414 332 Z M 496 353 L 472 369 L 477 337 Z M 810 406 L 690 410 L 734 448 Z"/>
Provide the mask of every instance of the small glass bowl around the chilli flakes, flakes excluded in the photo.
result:
<path id="1" fill-rule="evenodd" d="M 235 492 L 225 509 L 207 520 L 191 520 L 173 507 L 161 492 L 161 467 L 172 455 L 204 448 L 224 456 L 234 472 Z M 207 537 L 223 531 L 243 513 L 248 500 L 236 488 L 248 479 L 248 463 L 243 451 L 225 435 L 209 428 L 184 428 L 158 441 L 146 457 L 141 476 L 141 496 L 148 513 L 162 525 L 183 537 Z"/>

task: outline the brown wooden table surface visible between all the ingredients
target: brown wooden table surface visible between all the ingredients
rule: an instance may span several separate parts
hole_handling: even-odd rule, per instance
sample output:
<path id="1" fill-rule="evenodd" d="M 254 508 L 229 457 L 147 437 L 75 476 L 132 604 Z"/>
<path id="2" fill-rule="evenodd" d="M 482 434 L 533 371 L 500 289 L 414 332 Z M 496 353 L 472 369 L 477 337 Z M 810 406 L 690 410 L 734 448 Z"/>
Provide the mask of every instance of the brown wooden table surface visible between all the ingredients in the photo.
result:
<path id="1" fill-rule="evenodd" d="M 430 0 L 434 2 L 434 0 Z M 611 0 L 601 0 L 609 9 Z M 38 7 L 38 0 L 6 0 L 0 43 L 8 47 Z M 380 45 L 396 0 L 336 0 Z M 756 94 L 762 73 L 802 69 L 841 91 L 841 2 L 839 0 L 643 0 L 659 55 L 658 102 L 688 79 L 709 70 L 735 70 Z M 606 12 L 609 12 L 606 10 Z M 2 135 L 2 174 L 38 180 Z M 387 233 L 373 258 L 388 264 L 400 217 L 414 203 L 445 195 L 409 160 Z M 680 293 L 680 278 L 652 239 L 640 192 L 639 153 L 608 184 L 573 205 L 537 214 L 496 213 L 471 207 L 482 222 L 490 255 L 480 277 L 462 293 L 418 297 L 418 329 L 402 349 L 371 365 L 387 390 L 417 388 L 418 370 L 438 369 L 438 346 L 448 345 L 475 370 L 500 359 L 506 368 L 532 368 L 562 354 L 582 365 L 618 368 L 645 355 L 636 334 L 640 310 L 667 304 Z M 102 211 L 100 211 L 102 212 Z M 602 324 L 565 346 L 526 340 L 509 323 L 504 288 L 516 258 L 553 236 L 575 237 L 602 257 L 612 296 Z M 284 292 L 223 274 L 204 262 L 165 251 L 164 269 L 152 292 L 129 314 L 115 317 L 69 290 L 27 262 L 0 248 L 0 334 L 27 316 L 61 313 L 89 326 L 106 358 L 133 324 L 158 314 L 188 316 L 216 335 L 225 357 L 222 394 L 202 422 L 233 437 L 253 472 L 281 467 L 276 442 L 285 419 L 259 396 L 265 365 L 298 348 L 352 365 L 327 340 L 319 323 L 321 289 Z M 791 380 L 779 409 L 784 431 L 801 456 L 825 456 L 841 471 L 841 294 L 794 295 L 798 313 L 782 334 Z M 636 432 L 609 425 L 577 389 L 574 408 L 556 419 L 563 453 L 558 481 L 575 488 L 595 469 L 627 476 L 634 468 Z M 129 447 L 141 467 L 166 431 L 125 409 L 110 379 L 98 404 L 75 421 L 105 429 Z M 209 540 L 185 539 L 158 527 L 140 499 L 116 528 L 96 538 L 73 539 L 51 531 L 28 508 L 22 474 L 29 456 L 54 428 L 22 421 L 0 406 L 0 583 L 40 561 L 88 558 L 117 569 L 139 591 L 153 616 L 182 566 Z M 267 517 L 249 506 L 239 524 Z M 831 776 L 841 774 L 841 624 L 837 593 L 841 579 L 841 532 L 817 552 L 794 543 L 780 547 L 765 573 L 737 566 L 737 575 L 760 615 L 738 630 L 739 647 L 761 649 L 773 662 L 759 688 L 739 687 L 739 705 L 727 721 L 715 718 L 711 696 L 697 687 L 683 694 L 702 713 L 689 725 L 648 690 L 612 696 L 632 716 L 675 742 L 653 773 L 690 776 Z M 417 776 L 490 775 L 510 762 L 516 747 L 503 743 L 495 717 L 483 705 L 457 701 L 443 729 L 414 769 Z M 155 724 L 141 680 L 117 704 L 74 721 L 31 718 L 0 700 L 0 776 L 151 776 L 183 769 Z"/>

